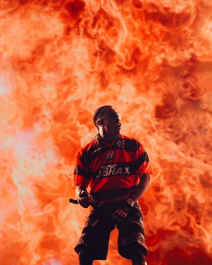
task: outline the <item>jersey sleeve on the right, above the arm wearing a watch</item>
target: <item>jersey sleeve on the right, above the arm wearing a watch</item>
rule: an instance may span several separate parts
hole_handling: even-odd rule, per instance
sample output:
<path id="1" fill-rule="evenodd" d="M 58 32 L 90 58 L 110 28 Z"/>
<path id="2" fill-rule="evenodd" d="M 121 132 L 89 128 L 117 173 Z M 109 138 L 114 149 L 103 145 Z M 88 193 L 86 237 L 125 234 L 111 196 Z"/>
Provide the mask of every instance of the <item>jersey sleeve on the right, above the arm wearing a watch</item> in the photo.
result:
<path id="1" fill-rule="evenodd" d="M 137 151 L 134 154 L 132 160 L 134 162 L 136 174 L 139 176 L 139 178 L 141 178 L 142 173 L 153 174 L 147 152 L 139 141 L 137 141 Z"/>

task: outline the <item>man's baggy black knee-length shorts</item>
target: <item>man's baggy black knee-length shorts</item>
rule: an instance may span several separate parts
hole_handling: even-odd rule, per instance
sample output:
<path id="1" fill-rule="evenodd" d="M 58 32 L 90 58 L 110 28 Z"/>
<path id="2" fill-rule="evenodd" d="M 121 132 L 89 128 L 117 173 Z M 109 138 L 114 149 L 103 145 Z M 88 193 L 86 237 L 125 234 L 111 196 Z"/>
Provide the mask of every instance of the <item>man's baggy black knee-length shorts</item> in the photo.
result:
<path id="1" fill-rule="evenodd" d="M 119 206 L 120 203 L 101 203 L 98 209 L 91 210 L 81 237 L 74 248 L 77 253 L 80 251 L 80 246 L 85 244 L 91 249 L 93 260 L 106 260 L 110 233 L 116 227 L 119 230 L 118 252 L 121 256 L 130 259 L 127 245 L 132 242 L 137 242 L 147 256 L 143 216 L 139 203 L 134 203 L 125 220 L 116 225 L 112 214 Z"/>

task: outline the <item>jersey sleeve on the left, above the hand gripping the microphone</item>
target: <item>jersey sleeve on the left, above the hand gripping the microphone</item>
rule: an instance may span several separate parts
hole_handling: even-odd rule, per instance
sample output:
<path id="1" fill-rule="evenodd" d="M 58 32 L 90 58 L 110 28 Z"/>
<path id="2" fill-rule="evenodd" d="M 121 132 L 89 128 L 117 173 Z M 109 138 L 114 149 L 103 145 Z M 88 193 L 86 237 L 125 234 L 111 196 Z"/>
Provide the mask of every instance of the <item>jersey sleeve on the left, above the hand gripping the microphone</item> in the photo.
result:
<path id="1" fill-rule="evenodd" d="M 74 165 L 74 186 L 85 186 L 88 188 L 91 180 L 89 168 L 83 163 L 82 152 L 79 150 Z"/>

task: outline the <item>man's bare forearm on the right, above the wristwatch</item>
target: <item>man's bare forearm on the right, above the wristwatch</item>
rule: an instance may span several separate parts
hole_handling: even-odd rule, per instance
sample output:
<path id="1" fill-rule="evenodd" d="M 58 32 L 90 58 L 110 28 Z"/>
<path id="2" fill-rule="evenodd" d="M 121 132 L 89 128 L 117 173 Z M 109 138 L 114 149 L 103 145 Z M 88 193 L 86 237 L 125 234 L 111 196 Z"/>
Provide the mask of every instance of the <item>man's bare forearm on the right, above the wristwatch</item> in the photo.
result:
<path id="1" fill-rule="evenodd" d="M 137 188 L 131 193 L 129 198 L 133 200 L 133 202 L 135 203 L 147 191 L 150 184 L 151 184 L 151 175 L 143 173 Z"/>

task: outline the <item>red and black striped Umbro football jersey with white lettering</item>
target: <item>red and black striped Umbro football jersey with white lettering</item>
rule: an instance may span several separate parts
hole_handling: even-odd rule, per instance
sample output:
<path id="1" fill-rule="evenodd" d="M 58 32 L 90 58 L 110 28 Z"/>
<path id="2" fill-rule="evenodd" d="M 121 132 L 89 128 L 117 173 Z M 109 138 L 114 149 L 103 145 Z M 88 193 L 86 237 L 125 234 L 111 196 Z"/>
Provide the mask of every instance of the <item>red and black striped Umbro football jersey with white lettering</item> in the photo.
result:
<path id="1" fill-rule="evenodd" d="M 123 201 L 134 191 L 142 173 L 152 174 L 152 168 L 137 139 L 119 134 L 106 143 L 98 135 L 78 151 L 74 185 L 90 185 L 96 202 Z"/>

